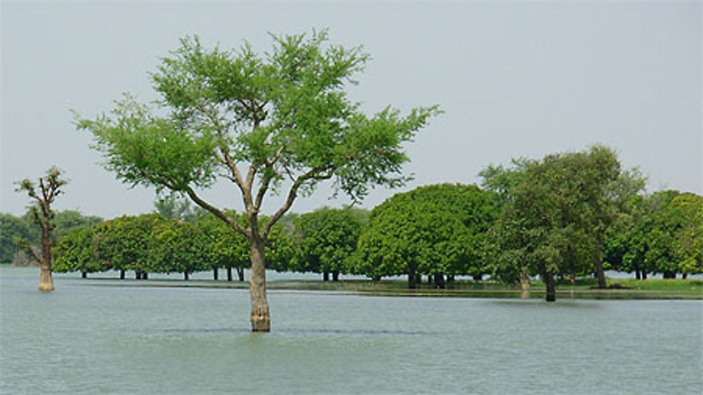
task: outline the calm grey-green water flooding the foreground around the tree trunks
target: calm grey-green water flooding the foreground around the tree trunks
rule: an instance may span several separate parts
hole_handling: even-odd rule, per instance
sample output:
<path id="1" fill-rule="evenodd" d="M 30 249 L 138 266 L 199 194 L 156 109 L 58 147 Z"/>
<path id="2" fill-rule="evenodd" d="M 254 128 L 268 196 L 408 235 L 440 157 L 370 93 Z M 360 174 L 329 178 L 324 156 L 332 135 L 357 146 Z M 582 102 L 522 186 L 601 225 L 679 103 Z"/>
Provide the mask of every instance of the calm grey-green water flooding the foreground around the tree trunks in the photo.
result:
<path id="1" fill-rule="evenodd" d="M 701 301 L 113 287 L 0 268 L 0 393 L 701 394 Z M 134 281 L 127 281 L 134 284 Z"/>

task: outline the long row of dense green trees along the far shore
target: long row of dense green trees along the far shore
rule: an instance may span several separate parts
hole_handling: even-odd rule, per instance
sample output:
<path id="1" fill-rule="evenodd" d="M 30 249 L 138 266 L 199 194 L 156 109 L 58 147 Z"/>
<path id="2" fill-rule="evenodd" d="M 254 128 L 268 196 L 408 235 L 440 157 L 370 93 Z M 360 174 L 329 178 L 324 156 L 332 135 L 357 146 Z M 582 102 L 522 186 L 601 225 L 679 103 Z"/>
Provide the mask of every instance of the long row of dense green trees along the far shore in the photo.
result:
<path id="1" fill-rule="evenodd" d="M 703 197 L 664 190 L 644 193 L 637 169 L 621 169 L 609 148 L 513 160 L 482 171 L 482 187 L 423 186 L 398 193 L 372 211 L 345 207 L 287 214 L 271 229 L 266 267 L 320 273 L 324 280 L 357 274 L 380 280 L 407 276 L 408 287 L 445 287 L 456 276 L 528 285 L 543 280 L 548 300 L 555 280 L 605 271 L 646 279 L 703 273 Z M 37 243 L 30 213 L 0 215 L 3 262 L 18 259 L 17 240 Z M 229 212 L 237 221 L 246 215 Z M 148 273 L 225 269 L 244 280 L 247 239 L 224 221 L 165 197 L 155 212 L 102 221 L 79 212 L 53 216 L 53 270 L 114 270 L 121 278 Z M 13 239 L 15 241 L 13 242 Z"/>

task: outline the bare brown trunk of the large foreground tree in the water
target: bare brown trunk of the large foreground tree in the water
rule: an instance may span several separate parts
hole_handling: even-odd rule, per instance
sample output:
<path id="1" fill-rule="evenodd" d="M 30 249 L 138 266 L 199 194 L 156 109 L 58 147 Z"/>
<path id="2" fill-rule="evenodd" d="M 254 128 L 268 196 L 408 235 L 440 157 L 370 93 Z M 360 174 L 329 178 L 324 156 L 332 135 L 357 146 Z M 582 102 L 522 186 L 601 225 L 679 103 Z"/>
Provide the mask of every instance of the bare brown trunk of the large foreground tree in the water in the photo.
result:
<path id="1" fill-rule="evenodd" d="M 252 332 L 270 332 L 271 316 L 269 301 L 266 300 L 266 256 L 264 240 L 252 229 L 249 250 L 252 258 L 252 273 L 249 276 L 249 292 L 252 297 Z"/>

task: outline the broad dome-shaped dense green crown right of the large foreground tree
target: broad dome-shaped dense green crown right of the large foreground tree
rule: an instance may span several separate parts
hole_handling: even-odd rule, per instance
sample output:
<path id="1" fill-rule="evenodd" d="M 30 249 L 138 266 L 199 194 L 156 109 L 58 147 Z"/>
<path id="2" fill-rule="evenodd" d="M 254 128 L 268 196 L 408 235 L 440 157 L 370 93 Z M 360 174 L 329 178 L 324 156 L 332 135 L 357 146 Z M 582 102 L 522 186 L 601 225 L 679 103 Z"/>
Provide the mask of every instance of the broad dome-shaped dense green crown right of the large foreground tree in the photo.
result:
<path id="1" fill-rule="evenodd" d="M 480 274 L 482 238 L 496 217 L 493 193 L 441 184 L 394 195 L 359 236 L 357 273 Z"/>

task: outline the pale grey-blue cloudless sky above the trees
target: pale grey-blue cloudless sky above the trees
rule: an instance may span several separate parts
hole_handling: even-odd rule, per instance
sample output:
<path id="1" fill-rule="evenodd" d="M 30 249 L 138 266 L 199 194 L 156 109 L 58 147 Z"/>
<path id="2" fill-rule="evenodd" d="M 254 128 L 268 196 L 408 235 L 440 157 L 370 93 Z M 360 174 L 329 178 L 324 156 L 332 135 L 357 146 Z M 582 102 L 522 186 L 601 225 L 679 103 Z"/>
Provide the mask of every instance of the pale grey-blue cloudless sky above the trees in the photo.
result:
<path id="1" fill-rule="evenodd" d="M 112 218 L 153 210 L 154 191 L 115 180 L 77 131 L 124 91 L 156 98 L 148 72 L 198 34 L 207 45 L 266 51 L 266 32 L 328 27 L 372 60 L 350 95 L 367 112 L 439 104 L 407 145 L 415 180 L 363 207 L 439 182 L 478 183 L 488 164 L 604 143 L 649 190 L 703 193 L 701 1 L 2 1 L 0 212 L 22 214 L 13 182 L 51 165 L 71 180 L 57 209 Z M 322 205 L 329 188 L 299 198 Z M 240 209 L 221 185 L 205 196 Z M 269 198 L 266 212 L 283 198 Z"/>

